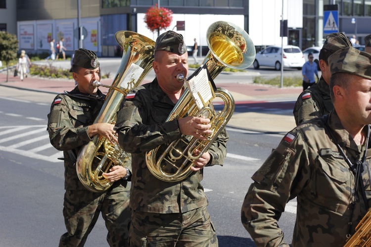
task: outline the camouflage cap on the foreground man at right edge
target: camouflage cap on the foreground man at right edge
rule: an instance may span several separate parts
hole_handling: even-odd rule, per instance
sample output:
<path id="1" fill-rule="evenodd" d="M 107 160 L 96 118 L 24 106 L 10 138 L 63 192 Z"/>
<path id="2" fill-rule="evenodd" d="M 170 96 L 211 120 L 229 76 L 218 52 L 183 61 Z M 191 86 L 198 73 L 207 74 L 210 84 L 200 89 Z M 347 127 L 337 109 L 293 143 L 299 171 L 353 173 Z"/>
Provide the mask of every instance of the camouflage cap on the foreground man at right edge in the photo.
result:
<path id="1" fill-rule="evenodd" d="M 340 49 L 328 57 L 331 75 L 347 73 L 371 80 L 371 54 L 354 47 Z"/>

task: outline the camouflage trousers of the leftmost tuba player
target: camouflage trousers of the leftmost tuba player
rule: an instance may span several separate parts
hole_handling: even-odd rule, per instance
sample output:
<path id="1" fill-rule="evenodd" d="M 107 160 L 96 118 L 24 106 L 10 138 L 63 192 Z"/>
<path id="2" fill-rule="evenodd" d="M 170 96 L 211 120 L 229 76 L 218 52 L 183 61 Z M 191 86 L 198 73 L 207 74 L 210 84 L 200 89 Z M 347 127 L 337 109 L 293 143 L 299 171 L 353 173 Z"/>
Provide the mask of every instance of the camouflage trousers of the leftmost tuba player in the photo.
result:
<path id="1" fill-rule="evenodd" d="M 107 242 L 109 246 L 128 246 L 128 224 L 131 212 L 129 190 L 123 186 L 109 188 L 104 193 L 94 193 L 88 190 L 66 190 L 63 206 L 67 232 L 60 238 L 60 247 L 84 246 L 99 213 L 102 214 L 108 230 Z"/>

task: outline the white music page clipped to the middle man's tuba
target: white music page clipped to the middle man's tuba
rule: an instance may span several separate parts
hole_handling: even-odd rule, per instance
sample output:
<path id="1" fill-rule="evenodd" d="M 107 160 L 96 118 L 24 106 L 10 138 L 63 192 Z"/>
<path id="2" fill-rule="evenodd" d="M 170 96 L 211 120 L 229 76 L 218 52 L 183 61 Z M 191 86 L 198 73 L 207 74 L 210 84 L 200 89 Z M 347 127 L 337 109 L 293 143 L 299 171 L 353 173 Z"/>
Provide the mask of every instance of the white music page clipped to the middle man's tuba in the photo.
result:
<path id="1" fill-rule="evenodd" d="M 214 98 L 205 68 L 201 69 L 197 75 L 193 76 L 189 81 L 185 81 L 185 83 L 199 110 Z"/>

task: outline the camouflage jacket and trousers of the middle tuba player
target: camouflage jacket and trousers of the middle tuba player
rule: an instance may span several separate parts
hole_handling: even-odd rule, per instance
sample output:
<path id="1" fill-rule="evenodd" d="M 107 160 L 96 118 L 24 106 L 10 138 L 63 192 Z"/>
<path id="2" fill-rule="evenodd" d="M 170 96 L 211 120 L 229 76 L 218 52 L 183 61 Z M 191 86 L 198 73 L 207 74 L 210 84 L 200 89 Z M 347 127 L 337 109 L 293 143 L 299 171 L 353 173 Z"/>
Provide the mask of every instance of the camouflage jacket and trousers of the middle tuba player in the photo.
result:
<path id="1" fill-rule="evenodd" d="M 165 122 L 174 106 L 155 79 L 132 90 L 117 115 L 119 144 L 132 153 L 130 241 L 134 246 L 159 245 L 165 241 L 170 245 L 171 239 L 175 245 L 177 241 L 190 239 L 199 246 L 217 246 L 206 210 L 208 200 L 201 185 L 203 169 L 182 181 L 164 182 L 153 176 L 145 163 L 145 152 L 181 138 L 178 121 Z M 223 165 L 227 140 L 228 134 L 223 130 L 209 149 L 211 160 L 207 166 Z M 169 230 L 172 226 L 179 231 Z"/>

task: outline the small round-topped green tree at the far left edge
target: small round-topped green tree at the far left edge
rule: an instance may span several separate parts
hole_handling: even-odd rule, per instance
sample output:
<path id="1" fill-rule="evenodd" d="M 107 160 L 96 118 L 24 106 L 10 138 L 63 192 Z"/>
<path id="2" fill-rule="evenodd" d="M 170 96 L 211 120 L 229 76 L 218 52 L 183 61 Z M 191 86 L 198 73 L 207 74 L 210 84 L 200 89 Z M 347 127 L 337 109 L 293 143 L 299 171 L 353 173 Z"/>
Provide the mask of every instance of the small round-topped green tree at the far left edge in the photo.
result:
<path id="1" fill-rule="evenodd" d="M 0 31 L 0 60 L 6 64 L 6 82 L 9 79 L 8 64 L 17 58 L 18 39 L 17 36 L 8 32 Z"/>

